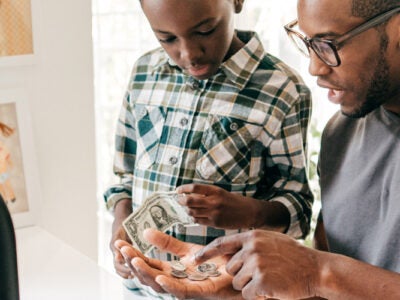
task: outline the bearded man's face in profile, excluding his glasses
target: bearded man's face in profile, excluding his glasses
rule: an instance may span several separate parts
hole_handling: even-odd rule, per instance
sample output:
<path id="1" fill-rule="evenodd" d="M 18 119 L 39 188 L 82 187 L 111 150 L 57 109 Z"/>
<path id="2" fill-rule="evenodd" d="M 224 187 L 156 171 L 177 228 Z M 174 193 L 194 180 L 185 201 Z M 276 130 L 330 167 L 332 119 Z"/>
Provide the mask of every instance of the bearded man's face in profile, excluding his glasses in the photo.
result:
<path id="1" fill-rule="evenodd" d="M 351 0 L 299 0 L 299 27 L 307 37 L 335 39 L 365 20 L 352 16 Z M 329 67 L 311 50 L 309 71 L 343 114 L 362 117 L 399 96 L 399 49 L 391 22 L 369 29 L 345 42 L 338 51 L 341 65 Z M 394 110 L 397 111 L 399 104 Z"/>

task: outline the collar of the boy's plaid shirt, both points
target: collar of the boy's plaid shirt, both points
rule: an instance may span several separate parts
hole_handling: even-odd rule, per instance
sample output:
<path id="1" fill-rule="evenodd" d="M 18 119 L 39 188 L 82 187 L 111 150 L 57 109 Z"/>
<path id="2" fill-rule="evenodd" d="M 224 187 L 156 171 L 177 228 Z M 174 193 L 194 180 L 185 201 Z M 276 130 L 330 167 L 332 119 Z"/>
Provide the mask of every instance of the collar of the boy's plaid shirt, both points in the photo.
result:
<path id="1" fill-rule="evenodd" d="M 242 90 L 258 68 L 265 55 L 264 47 L 257 33 L 252 31 L 236 31 L 238 38 L 245 45 L 228 60 L 221 64 L 220 72 Z M 165 52 L 164 52 L 165 53 Z M 165 53 L 154 64 L 153 72 L 164 72 L 170 68 L 179 68 L 178 65 Z M 218 74 L 216 74 L 218 75 Z M 215 75 L 215 76 L 216 76 Z"/>

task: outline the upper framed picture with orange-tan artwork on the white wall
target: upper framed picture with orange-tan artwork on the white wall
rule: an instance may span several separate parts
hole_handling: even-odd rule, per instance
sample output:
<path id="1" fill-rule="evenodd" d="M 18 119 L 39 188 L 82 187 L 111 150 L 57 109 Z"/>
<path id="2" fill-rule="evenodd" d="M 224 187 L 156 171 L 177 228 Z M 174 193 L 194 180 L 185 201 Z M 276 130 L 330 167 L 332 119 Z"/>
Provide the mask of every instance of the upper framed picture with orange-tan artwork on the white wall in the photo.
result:
<path id="1" fill-rule="evenodd" d="M 0 0 L 0 66 L 33 62 L 31 0 Z"/>

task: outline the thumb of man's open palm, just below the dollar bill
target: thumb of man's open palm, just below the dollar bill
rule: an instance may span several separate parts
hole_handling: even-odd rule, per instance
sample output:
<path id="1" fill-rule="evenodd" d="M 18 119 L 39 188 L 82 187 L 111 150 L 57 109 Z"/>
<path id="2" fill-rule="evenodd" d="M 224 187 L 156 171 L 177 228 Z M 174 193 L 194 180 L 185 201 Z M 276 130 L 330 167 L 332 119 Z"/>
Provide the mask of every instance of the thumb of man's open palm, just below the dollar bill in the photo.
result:
<path id="1" fill-rule="evenodd" d="M 144 230 L 143 237 L 159 250 L 166 251 L 177 256 L 186 255 L 192 248 L 191 244 L 184 243 L 168 234 L 152 228 Z"/>

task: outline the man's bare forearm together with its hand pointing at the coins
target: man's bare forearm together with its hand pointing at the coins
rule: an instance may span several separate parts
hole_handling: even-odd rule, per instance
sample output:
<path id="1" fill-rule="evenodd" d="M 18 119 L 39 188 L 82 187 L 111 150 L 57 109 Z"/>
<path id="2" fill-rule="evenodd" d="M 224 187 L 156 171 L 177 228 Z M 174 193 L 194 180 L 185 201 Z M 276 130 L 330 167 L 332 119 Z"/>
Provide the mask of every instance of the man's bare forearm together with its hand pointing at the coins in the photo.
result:
<path id="1" fill-rule="evenodd" d="M 276 232 L 254 230 L 214 240 L 197 263 L 228 255 L 227 272 L 246 299 L 400 299 L 400 274 L 305 247 Z"/>

